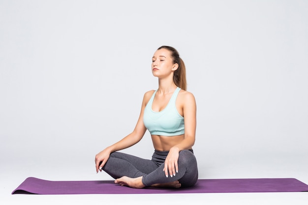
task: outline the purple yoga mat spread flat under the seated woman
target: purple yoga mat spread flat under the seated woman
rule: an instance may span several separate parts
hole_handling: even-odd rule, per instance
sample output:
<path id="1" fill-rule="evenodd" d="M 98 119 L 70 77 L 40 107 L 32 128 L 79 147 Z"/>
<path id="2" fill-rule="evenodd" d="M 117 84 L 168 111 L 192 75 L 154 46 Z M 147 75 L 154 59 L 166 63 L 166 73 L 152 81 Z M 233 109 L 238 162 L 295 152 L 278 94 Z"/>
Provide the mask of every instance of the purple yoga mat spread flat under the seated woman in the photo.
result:
<path id="1" fill-rule="evenodd" d="M 240 192 L 303 192 L 308 185 L 295 178 L 198 179 L 190 188 L 134 189 L 114 181 L 48 181 L 29 177 L 12 194 L 177 194 Z"/>

